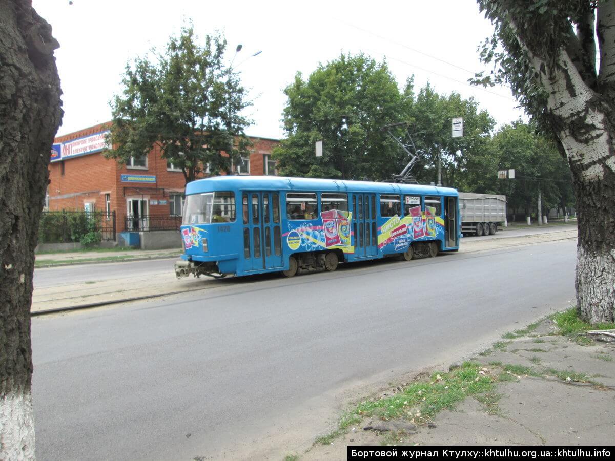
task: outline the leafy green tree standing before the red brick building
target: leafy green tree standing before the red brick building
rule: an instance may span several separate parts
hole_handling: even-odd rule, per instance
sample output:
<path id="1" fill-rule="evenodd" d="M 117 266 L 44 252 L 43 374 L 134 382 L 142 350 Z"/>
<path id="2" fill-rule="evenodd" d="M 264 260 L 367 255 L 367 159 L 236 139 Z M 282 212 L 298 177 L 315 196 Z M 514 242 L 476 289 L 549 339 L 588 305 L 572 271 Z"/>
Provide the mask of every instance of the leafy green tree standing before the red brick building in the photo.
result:
<path id="1" fill-rule="evenodd" d="M 124 90 L 111 103 L 113 149 L 106 156 L 126 163 L 157 145 L 186 183 L 205 165 L 213 175 L 230 172 L 231 162 L 248 153 L 249 122 L 240 112 L 249 103 L 238 74 L 224 65 L 225 49 L 220 35 L 207 35 L 199 45 L 189 25 L 164 52 L 154 51 L 154 60 L 145 56 L 128 64 Z"/>

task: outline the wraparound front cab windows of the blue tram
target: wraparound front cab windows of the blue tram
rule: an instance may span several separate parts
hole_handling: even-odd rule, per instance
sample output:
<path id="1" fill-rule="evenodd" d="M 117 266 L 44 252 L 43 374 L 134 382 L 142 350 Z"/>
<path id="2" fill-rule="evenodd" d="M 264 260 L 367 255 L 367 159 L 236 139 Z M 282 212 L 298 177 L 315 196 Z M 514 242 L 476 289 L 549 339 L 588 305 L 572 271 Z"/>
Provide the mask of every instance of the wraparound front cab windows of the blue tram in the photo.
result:
<path id="1" fill-rule="evenodd" d="M 235 221 L 235 194 L 232 192 L 206 192 L 186 197 L 184 226 L 232 221 Z"/>

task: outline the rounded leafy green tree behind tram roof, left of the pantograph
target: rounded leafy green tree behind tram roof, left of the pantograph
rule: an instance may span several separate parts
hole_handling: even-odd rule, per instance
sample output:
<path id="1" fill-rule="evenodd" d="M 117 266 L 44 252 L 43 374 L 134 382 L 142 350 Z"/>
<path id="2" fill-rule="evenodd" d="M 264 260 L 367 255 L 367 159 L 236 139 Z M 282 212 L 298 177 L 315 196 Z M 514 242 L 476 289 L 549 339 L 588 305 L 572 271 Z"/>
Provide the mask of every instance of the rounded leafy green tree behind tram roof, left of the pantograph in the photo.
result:
<path id="1" fill-rule="evenodd" d="M 402 95 L 386 63 L 363 55 L 341 55 L 301 73 L 284 90 L 287 138 L 274 149 L 287 176 L 370 179 L 399 173 L 399 149 L 381 128 L 403 116 Z M 314 154 L 323 141 L 323 157 Z"/>

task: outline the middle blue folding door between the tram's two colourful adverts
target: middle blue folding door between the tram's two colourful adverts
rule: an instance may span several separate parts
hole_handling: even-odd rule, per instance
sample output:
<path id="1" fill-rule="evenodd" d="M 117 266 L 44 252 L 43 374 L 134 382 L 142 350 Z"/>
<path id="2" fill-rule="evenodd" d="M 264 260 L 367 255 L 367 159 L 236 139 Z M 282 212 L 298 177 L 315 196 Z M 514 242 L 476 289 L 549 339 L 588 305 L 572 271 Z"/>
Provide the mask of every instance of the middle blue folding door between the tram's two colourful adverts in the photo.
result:
<path id="1" fill-rule="evenodd" d="M 378 254 L 376 195 L 352 194 L 352 231 L 357 258 Z"/>

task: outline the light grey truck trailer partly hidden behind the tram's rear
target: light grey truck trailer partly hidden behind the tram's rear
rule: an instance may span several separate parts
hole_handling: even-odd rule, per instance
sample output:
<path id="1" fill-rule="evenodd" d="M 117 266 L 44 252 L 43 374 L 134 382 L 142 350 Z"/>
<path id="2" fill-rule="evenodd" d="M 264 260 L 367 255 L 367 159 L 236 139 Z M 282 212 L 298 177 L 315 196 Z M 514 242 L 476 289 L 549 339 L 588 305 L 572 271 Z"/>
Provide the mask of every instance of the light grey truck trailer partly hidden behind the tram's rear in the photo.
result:
<path id="1" fill-rule="evenodd" d="M 506 195 L 459 192 L 459 213 L 463 234 L 495 234 L 506 221 Z"/>

